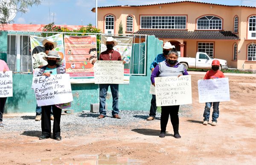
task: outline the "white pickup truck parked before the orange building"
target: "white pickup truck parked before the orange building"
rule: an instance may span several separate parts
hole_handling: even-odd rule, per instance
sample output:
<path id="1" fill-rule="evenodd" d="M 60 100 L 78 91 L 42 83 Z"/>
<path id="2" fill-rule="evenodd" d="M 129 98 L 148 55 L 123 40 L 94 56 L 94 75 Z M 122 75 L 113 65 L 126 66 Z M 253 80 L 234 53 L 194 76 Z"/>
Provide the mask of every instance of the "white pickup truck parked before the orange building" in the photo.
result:
<path id="1" fill-rule="evenodd" d="M 211 59 L 207 53 L 197 52 L 196 58 L 191 57 L 179 57 L 178 62 L 183 64 L 186 69 L 188 68 L 200 68 L 200 69 L 211 69 L 212 68 L 212 61 L 215 59 Z M 221 69 L 227 69 L 227 61 L 223 59 L 217 59 L 220 62 Z"/>

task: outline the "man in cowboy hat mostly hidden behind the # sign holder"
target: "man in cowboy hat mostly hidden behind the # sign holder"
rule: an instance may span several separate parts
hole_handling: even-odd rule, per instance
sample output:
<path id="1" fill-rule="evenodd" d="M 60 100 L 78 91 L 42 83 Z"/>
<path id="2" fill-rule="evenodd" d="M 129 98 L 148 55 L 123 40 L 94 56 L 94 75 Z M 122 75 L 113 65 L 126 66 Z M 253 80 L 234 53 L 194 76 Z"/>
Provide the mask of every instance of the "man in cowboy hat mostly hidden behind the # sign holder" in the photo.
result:
<path id="1" fill-rule="evenodd" d="M 47 65 L 47 61 L 44 60 L 44 57 L 49 53 L 49 50 L 52 50 L 53 48 L 57 47 L 57 43 L 54 42 L 52 39 L 44 39 L 42 44 L 44 45 L 45 52 L 36 52 L 37 54 L 33 54 L 34 58 L 34 63 L 33 67 L 35 68 L 41 68 L 45 65 Z M 34 48 L 35 49 L 35 48 Z M 34 50 L 33 50 L 34 52 Z M 40 121 L 41 120 L 41 114 L 42 114 L 42 109 L 41 106 L 36 105 L 35 108 L 35 121 Z M 51 113 L 51 120 L 54 120 L 53 113 Z"/>

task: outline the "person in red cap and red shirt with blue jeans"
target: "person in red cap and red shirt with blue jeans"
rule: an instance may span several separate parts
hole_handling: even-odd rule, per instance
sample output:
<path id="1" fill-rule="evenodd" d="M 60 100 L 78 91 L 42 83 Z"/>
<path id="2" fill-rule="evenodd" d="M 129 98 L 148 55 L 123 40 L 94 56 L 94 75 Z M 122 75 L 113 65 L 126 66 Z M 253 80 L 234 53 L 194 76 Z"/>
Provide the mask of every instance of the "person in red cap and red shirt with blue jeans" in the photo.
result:
<path id="1" fill-rule="evenodd" d="M 214 78 L 224 78 L 224 74 L 223 72 L 221 72 L 219 70 L 220 67 L 220 62 L 218 60 L 213 60 L 212 61 L 212 69 L 208 70 L 207 73 L 204 76 L 204 80 L 207 79 L 214 79 Z M 209 122 L 209 117 L 210 117 L 210 109 L 211 106 L 213 108 L 213 112 L 212 112 L 212 126 L 216 126 L 217 124 L 217 118 L 219 116 L 219 106 L 220 102 L 209 102 L 209 103 L 205 103 L 205 108 L 204 108 L 204 125 L 207 125 Z"/>

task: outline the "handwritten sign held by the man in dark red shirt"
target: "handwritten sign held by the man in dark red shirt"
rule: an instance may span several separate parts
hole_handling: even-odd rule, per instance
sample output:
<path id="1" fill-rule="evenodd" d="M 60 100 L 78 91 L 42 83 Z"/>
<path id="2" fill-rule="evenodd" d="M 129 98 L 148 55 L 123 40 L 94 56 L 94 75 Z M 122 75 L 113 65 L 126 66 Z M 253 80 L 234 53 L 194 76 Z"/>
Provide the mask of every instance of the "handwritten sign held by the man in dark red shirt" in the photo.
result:
<path id="1" fill-rule="evenodd" d="M 94 64 L 95 84 L 123 84 L 122 61 L 97 61 Z"/>

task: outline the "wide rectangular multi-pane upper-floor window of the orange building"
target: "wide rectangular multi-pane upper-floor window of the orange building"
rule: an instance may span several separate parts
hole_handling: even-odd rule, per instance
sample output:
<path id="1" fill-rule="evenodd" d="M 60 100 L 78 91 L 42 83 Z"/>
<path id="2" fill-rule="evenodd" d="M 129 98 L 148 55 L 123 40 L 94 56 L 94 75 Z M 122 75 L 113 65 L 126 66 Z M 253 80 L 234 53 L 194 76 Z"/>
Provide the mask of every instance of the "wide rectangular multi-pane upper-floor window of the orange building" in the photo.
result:
<path id="1" fill-rule="evenodd" d="M 186 29 L 186 16 L 141 16 L 142 29 Z"/>

